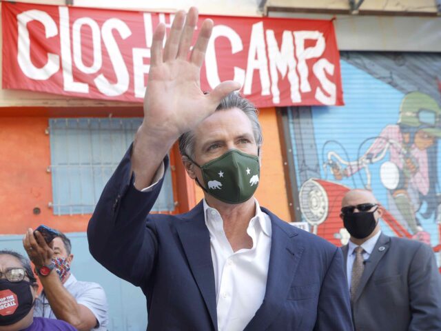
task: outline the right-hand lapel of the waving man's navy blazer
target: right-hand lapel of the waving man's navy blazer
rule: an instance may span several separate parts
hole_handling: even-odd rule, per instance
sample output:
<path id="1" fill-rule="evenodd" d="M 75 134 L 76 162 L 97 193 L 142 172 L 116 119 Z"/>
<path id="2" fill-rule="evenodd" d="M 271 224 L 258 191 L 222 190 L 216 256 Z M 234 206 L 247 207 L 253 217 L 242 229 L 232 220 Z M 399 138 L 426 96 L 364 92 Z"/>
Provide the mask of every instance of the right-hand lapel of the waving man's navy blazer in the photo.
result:
<path id="1" fill-rule="evenodd" d="M 282 228 L 279 220 L 269 210 L 262 208 L 271 218 L 271 252 L 269 255 L 267 286 L 262 305 L 249 321 L 244 331 L 266 330 L 277 317 L 287 299 L 291 282 L 295 277 L 298 263 L 302 258 L 304 246 L 295 242 L 296 228 L 287 225 Z"/>

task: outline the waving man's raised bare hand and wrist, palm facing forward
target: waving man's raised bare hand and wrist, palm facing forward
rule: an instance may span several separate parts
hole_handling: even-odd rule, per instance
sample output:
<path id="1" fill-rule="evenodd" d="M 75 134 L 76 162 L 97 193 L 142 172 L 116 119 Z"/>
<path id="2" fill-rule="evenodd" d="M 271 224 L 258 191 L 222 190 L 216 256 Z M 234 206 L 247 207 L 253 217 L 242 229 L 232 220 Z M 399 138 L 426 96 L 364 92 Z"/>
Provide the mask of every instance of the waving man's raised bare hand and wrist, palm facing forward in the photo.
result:
<path id="1" fill-rule="evenodd" d="M 136 188 L 150 185 L 167 150 L 181 134 L 195 128 L 216 110 L 229 92 L 240 88 L 237 82 L 225 81 L 209 94 L 201 91 L 201 67 L 213 21 L 203 22 L 189 54 L 197 21 L 196 8 L 190 8 L 188 14 L 177 12 L 164 48 L 163 23 L 153 34 L 144 121 L 136 134 L 132 153 Z"/>

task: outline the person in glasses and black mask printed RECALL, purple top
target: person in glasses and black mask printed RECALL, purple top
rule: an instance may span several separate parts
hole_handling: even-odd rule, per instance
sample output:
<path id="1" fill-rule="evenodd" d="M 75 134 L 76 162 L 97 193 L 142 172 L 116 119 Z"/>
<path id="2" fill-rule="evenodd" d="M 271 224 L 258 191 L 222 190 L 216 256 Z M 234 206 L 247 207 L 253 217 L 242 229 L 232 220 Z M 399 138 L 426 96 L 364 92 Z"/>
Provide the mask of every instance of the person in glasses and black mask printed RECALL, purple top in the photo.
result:
<path id="1" fill-rule="evenodd" d="M 0 331 L 76 330 L 65 321 L 35 317 L 38 287 L 28 259 L 0 250 Z"/>

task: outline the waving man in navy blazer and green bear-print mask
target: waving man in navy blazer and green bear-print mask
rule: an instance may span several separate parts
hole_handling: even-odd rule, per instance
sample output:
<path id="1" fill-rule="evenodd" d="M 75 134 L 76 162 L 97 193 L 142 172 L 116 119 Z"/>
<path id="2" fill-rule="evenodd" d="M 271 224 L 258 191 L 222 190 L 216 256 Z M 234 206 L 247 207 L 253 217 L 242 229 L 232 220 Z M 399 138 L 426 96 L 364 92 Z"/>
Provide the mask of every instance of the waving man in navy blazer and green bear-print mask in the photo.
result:
<path id="1" fill-rule="evenodd" d="M 213 21 L 154 32 L 144 120 L 88 225 L 94 258 L 147 297 L 148 330 L 353 330 L 342 252 L 260 206 L 262 130 L 239 83 L 200 87 Z M 151 214 L 178 140 L 204 199 Z"/>

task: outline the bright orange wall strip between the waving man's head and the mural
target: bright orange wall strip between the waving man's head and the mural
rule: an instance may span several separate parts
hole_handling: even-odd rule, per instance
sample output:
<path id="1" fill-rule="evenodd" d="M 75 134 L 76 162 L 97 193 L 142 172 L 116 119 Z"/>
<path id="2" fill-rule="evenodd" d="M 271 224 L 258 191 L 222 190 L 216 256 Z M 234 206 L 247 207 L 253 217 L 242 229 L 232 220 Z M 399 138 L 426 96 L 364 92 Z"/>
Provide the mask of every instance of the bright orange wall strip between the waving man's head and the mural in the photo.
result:
<path id="1" fill-rule="evenodd" d="M 262 168 L 256 198 L 260 205 L 274 212 L 280 219 L 291 221 L 289 214 L 283 158 L 275 108 L 260 110 L 260 125 L 263 130 Z M 203 191 L 196 188 L 196 201 L 203 199 Z"/>

